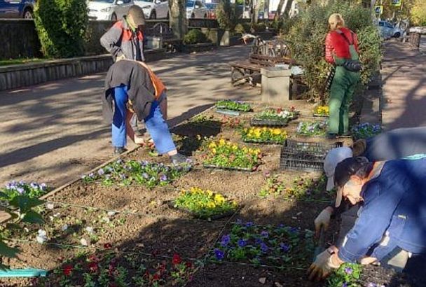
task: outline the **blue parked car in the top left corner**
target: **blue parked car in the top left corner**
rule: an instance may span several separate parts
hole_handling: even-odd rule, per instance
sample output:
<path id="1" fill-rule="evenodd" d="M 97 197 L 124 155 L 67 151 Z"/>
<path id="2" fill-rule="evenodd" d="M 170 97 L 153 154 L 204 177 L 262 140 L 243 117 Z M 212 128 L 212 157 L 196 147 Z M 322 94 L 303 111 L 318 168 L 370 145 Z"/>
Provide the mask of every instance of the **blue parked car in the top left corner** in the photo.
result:
<path id="1" fill-rule="evenodd" d="M 0 18 L 32 19 L 34 0 L 0 0 Z"/>

